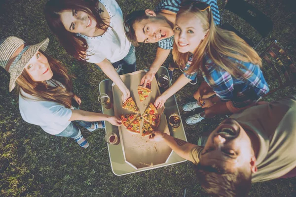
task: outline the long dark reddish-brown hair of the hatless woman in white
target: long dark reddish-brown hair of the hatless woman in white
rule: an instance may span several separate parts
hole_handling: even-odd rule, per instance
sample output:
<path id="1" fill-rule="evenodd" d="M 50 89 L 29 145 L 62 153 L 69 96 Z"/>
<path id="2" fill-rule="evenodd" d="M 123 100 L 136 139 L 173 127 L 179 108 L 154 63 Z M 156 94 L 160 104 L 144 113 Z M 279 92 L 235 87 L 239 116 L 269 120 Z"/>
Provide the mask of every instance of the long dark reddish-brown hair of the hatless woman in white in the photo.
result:
<path id="1" fill-rule="evenodd" d="M 83 37 L 65 29 L 60 13 L 72 9 L 86 12 L 96 20 L 98 29 L 105 30 L 109 26 L 100 17 L 98 3 L 98 0 L 49 0 L 45 5 L 44 14 L 49 29 L 58 37 L 67 53 L 77 60 L 86 61 L 87 42 Z"/>

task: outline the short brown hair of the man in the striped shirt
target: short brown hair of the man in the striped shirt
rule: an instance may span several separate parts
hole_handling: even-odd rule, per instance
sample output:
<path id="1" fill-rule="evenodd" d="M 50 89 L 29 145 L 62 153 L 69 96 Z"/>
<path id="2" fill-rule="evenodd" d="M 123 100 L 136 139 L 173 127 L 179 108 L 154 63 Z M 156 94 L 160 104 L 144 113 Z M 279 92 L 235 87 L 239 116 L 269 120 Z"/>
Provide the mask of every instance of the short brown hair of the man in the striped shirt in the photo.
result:
<path id="1" fill-rule="evenodd" d="M 141 22 L 143 19 L 148 18 L 149 16 L 146 15 L 145 10 L 133 11 L 125 17 L 125 35 L 134 46 L 139 46 L 134 25 L 136 22 Z"/>

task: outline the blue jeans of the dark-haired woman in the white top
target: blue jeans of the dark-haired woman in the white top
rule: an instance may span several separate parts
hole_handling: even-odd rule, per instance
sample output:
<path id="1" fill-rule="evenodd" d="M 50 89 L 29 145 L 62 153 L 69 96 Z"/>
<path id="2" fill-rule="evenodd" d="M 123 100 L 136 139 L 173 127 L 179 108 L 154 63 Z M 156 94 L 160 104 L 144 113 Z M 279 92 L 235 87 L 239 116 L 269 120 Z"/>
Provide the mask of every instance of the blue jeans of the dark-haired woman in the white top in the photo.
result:
<path id="1" fill-rule="evenodd" d="M 128 54 L 118 62 L 112 63 L 116 72 L 122 72 L 123 74 L 136 71 L 136 49 L 131 44 Z"/>

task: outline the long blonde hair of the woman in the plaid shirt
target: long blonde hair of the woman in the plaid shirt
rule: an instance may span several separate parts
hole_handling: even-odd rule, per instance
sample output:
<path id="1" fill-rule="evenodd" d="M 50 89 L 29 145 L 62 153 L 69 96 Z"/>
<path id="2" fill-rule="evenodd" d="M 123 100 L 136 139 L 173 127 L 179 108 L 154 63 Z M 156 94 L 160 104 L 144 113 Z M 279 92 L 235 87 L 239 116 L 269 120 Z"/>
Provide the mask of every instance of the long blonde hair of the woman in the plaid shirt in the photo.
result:
<path id="1" fill-rule="evenodd" d="M 242 62 L 251 62 L 254 65 L 261 67 L 261 58 L 257 52 L 251 48 L 242 38 L 237 36 L 235 33 L 222 30 L 214 24 L 213 14 L 210 8 L 201 11 L 197 8 L 195 3 L 191 3 L 182 6 L 177 13 L 176 18 L 184 13 L 191 12 L 196 15 L 202 24 L 204 32 L 207 34 L 200 42 L 198 47 L 193 53 L 193 61 L 186 71 L 186 73 L 198 72 L 199 69 L 206 75 L 207 78 L 212 80 L 205 68 L 205 54 L 214 62 L 215 65 L 219 66 L 216 69 L 224 69 L 231 76 L 235 78 L 244 77 L 244 73 L 240 70 L 240 67 L 245 67 L 227 57 L 237 59 Z M 173 47 L 173 59 L 177 65 L 185 65 L 188 61 L 189 52 L 181 53 L 178 51 L 177 45 L 174 42 Z"/>

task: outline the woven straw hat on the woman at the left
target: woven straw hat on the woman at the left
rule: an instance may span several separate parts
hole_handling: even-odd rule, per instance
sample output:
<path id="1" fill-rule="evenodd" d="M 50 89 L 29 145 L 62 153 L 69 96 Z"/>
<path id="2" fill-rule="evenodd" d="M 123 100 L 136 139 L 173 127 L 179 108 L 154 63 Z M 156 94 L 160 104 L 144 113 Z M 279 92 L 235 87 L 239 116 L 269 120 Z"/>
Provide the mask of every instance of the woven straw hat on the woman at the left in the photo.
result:
<path id="1" fill-rule="evenodd" d="M 0 66 L 10 73 L 9 92 L 15 87 L 16 79 L 23 72 L 26 64 L 40 49 L 45 51 L 49 39 L 35 45 L 27 43 L 14 36 L 9 36 L 0 40 Z"/>

